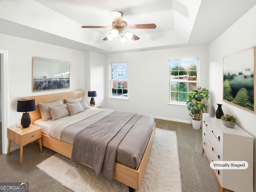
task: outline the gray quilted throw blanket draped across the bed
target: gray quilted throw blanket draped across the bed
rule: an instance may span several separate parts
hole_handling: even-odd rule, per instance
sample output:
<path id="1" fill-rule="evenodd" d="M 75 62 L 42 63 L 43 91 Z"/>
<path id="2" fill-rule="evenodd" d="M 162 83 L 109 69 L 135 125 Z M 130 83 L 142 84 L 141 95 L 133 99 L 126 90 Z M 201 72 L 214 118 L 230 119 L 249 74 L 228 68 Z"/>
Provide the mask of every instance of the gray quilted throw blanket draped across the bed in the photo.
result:
<path id="1" fill-rule="evenodd" d="M 117 148 L 140 117 L 133 112 L 113 111 L 82 129 L 75 136 L 71 161 L 88 164 L 96 175 L 112 180 Z"/>

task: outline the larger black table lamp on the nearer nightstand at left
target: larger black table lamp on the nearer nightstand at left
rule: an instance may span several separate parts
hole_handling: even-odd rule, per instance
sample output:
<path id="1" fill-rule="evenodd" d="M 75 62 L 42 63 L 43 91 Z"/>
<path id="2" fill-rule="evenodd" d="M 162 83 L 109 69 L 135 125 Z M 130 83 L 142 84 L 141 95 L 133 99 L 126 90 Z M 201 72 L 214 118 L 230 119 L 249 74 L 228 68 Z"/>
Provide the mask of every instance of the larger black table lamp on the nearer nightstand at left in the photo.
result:
<path id="1" fill-rule="evenodd" d="M 17 101 L 17 112 L 24 112 L 20 121 L 22 127 L 30 126 L 31 119 L 28 112 L 36 110 L 35 99 L 20 99 Z"/>

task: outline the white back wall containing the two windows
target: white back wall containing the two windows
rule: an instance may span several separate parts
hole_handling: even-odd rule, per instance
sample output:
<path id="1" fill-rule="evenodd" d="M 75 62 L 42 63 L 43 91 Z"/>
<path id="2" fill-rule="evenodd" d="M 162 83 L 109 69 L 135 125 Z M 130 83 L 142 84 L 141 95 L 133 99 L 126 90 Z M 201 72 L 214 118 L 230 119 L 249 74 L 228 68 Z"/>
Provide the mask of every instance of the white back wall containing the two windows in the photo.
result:
<path id="1" fill-rule="evenodd" d="M 169 101 L 169 60 L 200 60 L 200 84 L 208 88 L 208 46 L 175 48 L 106 55 L 105 66 L 105 108 L 128 110 L 154 117 L 191 123 L 186 106 L 170 105 Z M 129 100 L 109 97 L 109 64 L 112 62 L 128 62 Z M 156 110 L 156 106 L 158 110 Z"/>

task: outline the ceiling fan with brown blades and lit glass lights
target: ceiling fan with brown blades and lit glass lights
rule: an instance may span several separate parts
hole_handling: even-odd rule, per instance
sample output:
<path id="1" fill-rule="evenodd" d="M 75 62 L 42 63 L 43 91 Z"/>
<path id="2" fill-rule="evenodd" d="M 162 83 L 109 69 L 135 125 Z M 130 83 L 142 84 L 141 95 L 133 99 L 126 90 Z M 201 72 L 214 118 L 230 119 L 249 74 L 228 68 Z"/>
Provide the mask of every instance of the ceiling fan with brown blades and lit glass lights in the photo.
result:
<path id="1" fill-rule="evenodd" d="M 110 34 L 108 34 L 103 40 L 112 41 L 113 38 L 120 35 L 120 42 L 125 43 L 130 39 L 139 40 L 140 38 L 129 32 L 130 29 L 155 29 L 156 24 L 136 24 L 136 25 L 127 25 L 127 22 L 122 20 L 123 12 L 111 11 L 114 21 L 112 26 L 82 26 L 82 28 L 112 28 Z"/>

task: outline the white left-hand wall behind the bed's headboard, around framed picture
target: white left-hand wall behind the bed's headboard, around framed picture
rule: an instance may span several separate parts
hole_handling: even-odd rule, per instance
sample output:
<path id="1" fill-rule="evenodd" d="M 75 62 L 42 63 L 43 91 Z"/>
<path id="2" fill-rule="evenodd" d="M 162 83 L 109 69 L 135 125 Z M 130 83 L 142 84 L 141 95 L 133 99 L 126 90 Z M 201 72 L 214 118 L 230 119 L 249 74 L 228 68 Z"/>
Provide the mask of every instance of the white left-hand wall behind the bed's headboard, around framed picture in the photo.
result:
<path id="1" fill-rule="evenodd" d="M 8 122 L 20 123 L 17 100 L 33 95 L 84 90 L 84 52 L 0 34 L 0 50 L 8 51 Z M 70 62 L 70 89 L 32 92 L 32 56 Z M 11 99 L 10 94 L 16 98 Z M 7 129 L 7 128 L 5 128 Z"/>

